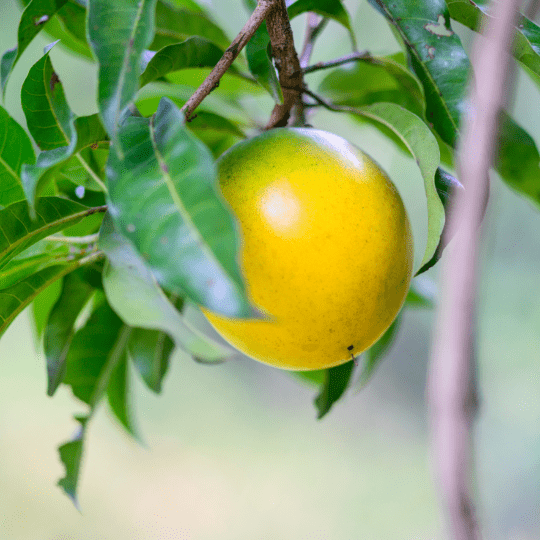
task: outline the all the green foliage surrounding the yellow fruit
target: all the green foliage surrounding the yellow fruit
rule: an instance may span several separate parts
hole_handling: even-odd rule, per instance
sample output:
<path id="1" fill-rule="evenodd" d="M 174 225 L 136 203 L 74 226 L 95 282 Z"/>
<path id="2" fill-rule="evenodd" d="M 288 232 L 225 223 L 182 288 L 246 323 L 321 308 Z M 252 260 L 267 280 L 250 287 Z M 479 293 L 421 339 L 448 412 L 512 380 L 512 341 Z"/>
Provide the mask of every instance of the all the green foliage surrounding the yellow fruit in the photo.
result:
<path id="1" fill-rule="evenodd" d="M 344 27 L 351 42 L 349 56 L 303 66 L 301 106 L 306 117 L 324 107 L 369 122 L 415 160 L 428 210 L 421 274 L 441 256 L 445 210 L 463 189 L 452 168 L 471 67 L 451 20 L 479 31 L 489 13 L 483 1 L 370 3 L 400 50 L 357 51 L 361 29 L 341 1 L 289 5 L 290 18 L 314 12 Z M 238 266 L 239 231 L 218 192 L 215 158 L 259 127 L 246 100 L 268 94 L 281 103 L 283 92 L 263 24 L 186 121 L 181 107 L 231 42 L 194 0 L 23 4 L 17 43 L 0 58 L 2 94 L 13 90 L 10 74 L 31 41 L 44 33 L 51 45 L 21 88 L 27 129 L 0 107 L 0 333 L 32 304 L 49 395 L 68 385 L 87 407 L 76 417 L 74 439 L 60 447 L 66 475 L 59 484 L 76 501 L 84 437 L 99 403 L 106 399 L 137 436 L 131 371 L 159 392 L 175 348 L 203 363 L 234 354 L 186 320 L 186 303 L 230 317 L 259 316 Z M 246 5 L 253 10 L 255 2 Z M 97 65 L 96 114 L 71 110 L 53 47 Z M 524 16 L 513 54 L 539 82 L 540 28 Z M 309 75 L 321 69 L 328 74 L 312 91 Z M 531 136 L 503 113 L 496 170 L 535 204 L 539 161 Z M 426 282 L 413 282 L 403 310 L 432 306 Z M 318 387 L 319 418 L 351 385 L 358 360 L 356 384 L 367 383 L 402 313 L 363 358 L 296 374 Z"/>

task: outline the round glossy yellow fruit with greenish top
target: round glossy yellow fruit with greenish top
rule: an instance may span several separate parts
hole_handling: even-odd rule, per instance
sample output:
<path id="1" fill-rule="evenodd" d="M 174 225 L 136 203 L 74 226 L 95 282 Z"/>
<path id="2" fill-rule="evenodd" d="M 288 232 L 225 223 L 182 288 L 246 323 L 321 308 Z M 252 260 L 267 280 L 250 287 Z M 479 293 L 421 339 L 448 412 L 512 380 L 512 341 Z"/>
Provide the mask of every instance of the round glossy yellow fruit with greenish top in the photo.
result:
<path id="1" fill-rule="evenodd" d="M 214 328 L 283 369 L 332 367 L 369 348 L 398 314 L 413 264 L 409 219 L 384 172 L 345 139 L 307 128 L 242 141 L 218 166 L 248 293 L 271 319 L 202 309 Z"/>

